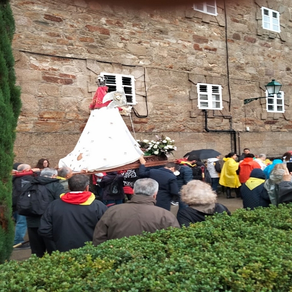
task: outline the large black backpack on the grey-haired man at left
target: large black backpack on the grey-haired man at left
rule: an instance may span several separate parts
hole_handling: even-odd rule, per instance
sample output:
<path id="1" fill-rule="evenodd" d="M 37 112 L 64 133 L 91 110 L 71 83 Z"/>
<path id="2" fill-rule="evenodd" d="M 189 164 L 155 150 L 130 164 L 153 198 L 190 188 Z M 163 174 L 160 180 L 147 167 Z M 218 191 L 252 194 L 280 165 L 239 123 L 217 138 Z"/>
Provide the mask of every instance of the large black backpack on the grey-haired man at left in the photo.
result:
<path id="1" fill-rule="evenodd" d="M 20 193 L 17 200 L 19 215 L 37 217 L 41 216 L 52 201 L 47 188 L 38 183 L 30 185 Z"/>

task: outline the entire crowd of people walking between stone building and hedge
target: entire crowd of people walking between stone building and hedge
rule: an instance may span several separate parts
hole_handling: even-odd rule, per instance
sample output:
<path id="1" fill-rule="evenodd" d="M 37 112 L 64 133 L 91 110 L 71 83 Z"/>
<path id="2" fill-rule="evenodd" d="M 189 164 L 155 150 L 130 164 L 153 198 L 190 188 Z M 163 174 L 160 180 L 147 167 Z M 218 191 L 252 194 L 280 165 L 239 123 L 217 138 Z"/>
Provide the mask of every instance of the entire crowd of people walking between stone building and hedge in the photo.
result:
<path id="1" fill-rule="evenodd" d="M 40 159 L 35 168 L 14 164 L 14 247 L 31 248 L 42 257 L 87 241 L 98 245 L 143 231 L 188 227 L 215 213 L 230 215 L 216 202 L 220 192 L 232 199 L 234 190 L 250 209 L 292 201 L 292 152 L 270 161 L 245 148 L 241 156 L 231 152 L 223 162 L 221 167 L 219 156 L 201 162 L 189 155 L 147 167 L 141 156 L 137 171 L 90 175 L 74 174 L 69 167 L 50 168 L 48 159 Z M 176 201 L 177 216 L 170 212 Z M 26 231 L 29 242 L 23 239 Z"/>

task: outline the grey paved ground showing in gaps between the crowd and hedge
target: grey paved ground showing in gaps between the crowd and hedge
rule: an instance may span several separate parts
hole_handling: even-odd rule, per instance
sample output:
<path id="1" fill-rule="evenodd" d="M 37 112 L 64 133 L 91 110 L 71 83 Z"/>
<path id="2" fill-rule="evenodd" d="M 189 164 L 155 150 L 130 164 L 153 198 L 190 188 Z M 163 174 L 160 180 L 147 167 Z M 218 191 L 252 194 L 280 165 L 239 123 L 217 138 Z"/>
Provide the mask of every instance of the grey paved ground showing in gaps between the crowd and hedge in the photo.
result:
<path id="1" fill-rule="evenodd" d="M 232 194 L 235 196 L 235 194 Z M 235 198 L 235 199 L 226 199 L 226 195 L 223 196 L 223 194 L 220 194 L 217 200 L 220 204 L 225 205 L 230 212 L 234 212 L 238 208 L 242 208 L 242 200 Z M 171 212 L 176 215 L 178 212 L 178 206 L 171 206 Z M 27 236 L 25 240 L 28 240 Z M 16 260 L 24 260 L 27 259 L 31 256 L 31 250 L 18 250 L 18 251 L 13 251 L 11 259 L 16 259 Z"/>

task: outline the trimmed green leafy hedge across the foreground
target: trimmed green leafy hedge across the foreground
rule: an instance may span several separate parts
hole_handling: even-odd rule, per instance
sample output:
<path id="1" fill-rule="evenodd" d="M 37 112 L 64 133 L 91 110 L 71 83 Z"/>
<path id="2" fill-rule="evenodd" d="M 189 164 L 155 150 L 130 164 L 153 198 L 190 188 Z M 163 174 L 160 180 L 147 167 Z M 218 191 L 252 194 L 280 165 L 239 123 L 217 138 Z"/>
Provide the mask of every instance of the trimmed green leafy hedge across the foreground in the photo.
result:
<path id="1" fill-rule="evenodd" d="M 292 204 L 0 266 L 0 292 L 292 292 Z"/>

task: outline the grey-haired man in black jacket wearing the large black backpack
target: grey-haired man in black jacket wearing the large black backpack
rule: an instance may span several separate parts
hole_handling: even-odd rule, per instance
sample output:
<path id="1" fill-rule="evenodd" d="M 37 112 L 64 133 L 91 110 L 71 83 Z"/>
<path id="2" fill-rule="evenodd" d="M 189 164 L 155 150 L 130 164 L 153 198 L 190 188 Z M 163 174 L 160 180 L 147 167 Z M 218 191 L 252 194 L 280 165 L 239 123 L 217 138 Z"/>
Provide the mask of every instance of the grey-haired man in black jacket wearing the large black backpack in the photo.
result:
<path id="1" fill-rule="evenodd" d="M 64 187 L 56 179 L 56 176 L 56 169 L 46 167 L 41 171 L 39 177 L 34 178 L 30 183 L 23 186 L 22 192 L 29 190 L 33 184 L 41 184 L 47 190 L 48 201 L 59 199 L 60 195 L 64 193 Z M 55 250 L 55 243 L 52 240 L 43 238 L 37 233 L 40 218 L 41 216 L 26 216 L 27 232 L 32 254 L 36 254 L 38 257 L 42 257 L 46 251 L 51 254 Z"/>

